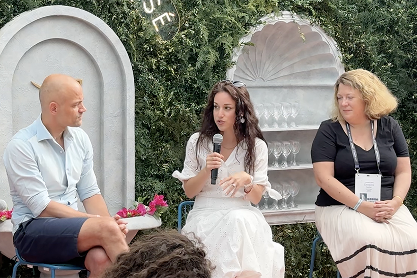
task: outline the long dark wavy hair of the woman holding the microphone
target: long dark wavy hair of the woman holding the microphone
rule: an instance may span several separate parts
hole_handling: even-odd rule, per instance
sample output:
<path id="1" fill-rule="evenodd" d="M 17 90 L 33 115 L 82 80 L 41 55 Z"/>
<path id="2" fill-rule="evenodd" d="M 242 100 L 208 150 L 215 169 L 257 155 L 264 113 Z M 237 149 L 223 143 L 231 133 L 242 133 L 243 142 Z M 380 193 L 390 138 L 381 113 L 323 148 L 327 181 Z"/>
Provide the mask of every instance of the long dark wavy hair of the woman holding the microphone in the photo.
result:
<path id="1" fill-rule="evenodd" d="M 196 144 L 196 156 L 198 156 L 198 148 L 202 142 L 207 145 L 208 142 L 213 140 L 213 135 L 220 133 L 213 115 L 214 97 L 218 92 L 227 92 L 236 103 L 236 117 L 233 125 L 234 134 L 236 135 L 238 148 L 239 143 L 242 141 L 245 141 L 248 147 L 245 156 L 245 171 L 249 174 L 253 174 L 256 159 L 255 139 L 258 137 L 265 143 L 266 141 L 263 138 L 262 132 L 259 128 L 259 120 L 255 115 L 255 109 L 253 108 L 253 104 L 251 102 L 246 86 L 236 87 L 232 84 L 231 81 L 228 80 L 218 82 L 216 85 L 214 85 L 210 94 L 208 95 L 207 106 L 205 107 L 202 115 L 200 135 Z M 244 123 L 241 122 L 242 115 L 245 119 Z"/>

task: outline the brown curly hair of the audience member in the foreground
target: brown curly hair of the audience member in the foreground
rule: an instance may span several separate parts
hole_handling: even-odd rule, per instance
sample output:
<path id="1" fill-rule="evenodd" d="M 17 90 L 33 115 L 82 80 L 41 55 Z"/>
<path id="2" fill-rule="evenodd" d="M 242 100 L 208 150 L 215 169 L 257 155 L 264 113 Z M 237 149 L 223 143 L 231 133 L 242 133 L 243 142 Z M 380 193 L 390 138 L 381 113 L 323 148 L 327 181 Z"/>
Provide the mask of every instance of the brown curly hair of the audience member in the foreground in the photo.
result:
<path id="1" fill-rule="evenodd" d="M 214 269 L 202 243 L 177 231 L 144 235 L 118 255 L 102 278 L 210 278 Z"/>

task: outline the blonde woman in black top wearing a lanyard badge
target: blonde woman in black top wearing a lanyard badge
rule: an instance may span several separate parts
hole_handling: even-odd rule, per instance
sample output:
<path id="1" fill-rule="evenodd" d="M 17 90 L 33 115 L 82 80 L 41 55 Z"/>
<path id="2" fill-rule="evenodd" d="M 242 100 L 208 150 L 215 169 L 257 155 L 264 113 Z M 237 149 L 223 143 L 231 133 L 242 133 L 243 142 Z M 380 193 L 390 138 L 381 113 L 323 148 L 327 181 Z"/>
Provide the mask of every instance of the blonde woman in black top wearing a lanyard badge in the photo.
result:
<path id="1" fill-rule="evenodd" d="M 316 225 L 342 277 L 416 277 L 417 223 L 403 200 L 411 182 L 407 143 L 388 116 L 397 100 L 372 73 L 335 84 L 332 119 L 311 149 L 321 187 Z"/>

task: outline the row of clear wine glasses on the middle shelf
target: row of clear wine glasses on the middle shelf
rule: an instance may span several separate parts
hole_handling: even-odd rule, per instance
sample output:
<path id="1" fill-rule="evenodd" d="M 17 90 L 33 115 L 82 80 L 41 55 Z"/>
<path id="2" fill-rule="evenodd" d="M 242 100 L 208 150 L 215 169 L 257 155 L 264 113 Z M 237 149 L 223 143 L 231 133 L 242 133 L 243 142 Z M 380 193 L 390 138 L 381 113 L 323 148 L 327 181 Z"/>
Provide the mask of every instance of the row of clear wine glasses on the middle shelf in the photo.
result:
<path id="1" fill-rule="evenodd" d="M 268 143 L 268 166 L 274 168 L 298 166 L 295 157 L 300 152 L 300 141 L 272 141 Z M 288 156 L 292 153 L 293 159 L 287 162 Z M 284 159 L 280 162 L 279 157 L 283 155 Z"/>

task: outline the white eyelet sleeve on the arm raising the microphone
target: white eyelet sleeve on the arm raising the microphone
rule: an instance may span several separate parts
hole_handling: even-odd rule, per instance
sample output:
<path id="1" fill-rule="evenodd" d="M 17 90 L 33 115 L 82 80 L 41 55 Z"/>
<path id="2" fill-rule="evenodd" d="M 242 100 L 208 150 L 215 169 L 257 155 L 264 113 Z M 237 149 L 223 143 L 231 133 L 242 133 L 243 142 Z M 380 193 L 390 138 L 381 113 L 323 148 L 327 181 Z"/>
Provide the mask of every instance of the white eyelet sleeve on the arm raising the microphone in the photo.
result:
<path id="1" fill-rule="evenodd" d="M 183 182 L 183 187 L 184 181 L 189 180 L 192 177 L 195 177 L 198 174 L 198 172 L 200 172 L 199 168 L 201 168 L 201 165 L 200 167 L 198 167 L 197 159 L 195 156 L 195 146 L 197 143 L 197 139 L 198 134 L 193 134 L 187 142 L 183 171 L 181 173 L 179 171 L 174 171 L 172 173 L 172 176 L 174 178 L 177 178 L 181 182 Z"/>

